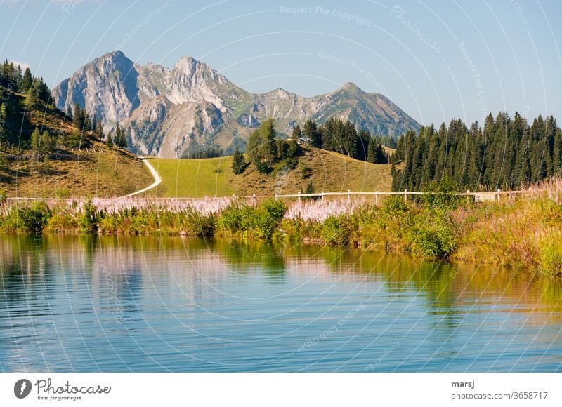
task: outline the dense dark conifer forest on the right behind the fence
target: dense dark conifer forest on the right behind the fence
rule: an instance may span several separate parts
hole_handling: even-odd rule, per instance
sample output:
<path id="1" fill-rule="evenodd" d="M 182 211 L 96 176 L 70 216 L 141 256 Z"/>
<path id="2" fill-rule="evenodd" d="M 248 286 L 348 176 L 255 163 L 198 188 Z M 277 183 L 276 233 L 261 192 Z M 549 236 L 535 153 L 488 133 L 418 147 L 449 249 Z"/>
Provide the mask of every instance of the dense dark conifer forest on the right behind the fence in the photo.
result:
<path id="1" fill-rule="evenodd" d="M 398 139 L 392 174 L 394 191 L 421 191 L 445 179 L 462 191 L 528 187 L 562 174 L 562 131 L 553 116 L 529 125 L 517 112 L 488 114 L 483 127 L 461 119 L 438 131 L 422 126 Z"/>

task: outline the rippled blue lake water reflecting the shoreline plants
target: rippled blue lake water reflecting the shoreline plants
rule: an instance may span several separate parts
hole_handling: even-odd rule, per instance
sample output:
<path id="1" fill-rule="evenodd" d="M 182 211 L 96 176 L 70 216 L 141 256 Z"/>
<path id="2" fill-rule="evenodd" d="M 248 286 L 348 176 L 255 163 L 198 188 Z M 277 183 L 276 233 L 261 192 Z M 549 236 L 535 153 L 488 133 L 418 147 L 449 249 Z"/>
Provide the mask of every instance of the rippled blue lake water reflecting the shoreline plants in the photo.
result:
<path id="1" fill-rule="evenodd" d="M 0 236 L 0 371 L 560 371 L 562 286 L 407 256 Z"/>

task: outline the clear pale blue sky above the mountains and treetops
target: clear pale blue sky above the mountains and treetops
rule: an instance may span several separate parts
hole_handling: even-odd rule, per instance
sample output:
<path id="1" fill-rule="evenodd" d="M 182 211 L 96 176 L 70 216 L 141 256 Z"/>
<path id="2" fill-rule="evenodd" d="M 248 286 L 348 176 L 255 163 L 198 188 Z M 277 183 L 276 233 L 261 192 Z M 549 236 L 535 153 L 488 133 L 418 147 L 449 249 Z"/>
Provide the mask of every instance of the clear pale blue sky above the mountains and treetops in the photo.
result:
<path id="1" fill-rule="evenodd" d="M 0 0 L 0 58 L 53 87 L 104 53 L 207 62 L 252 92 L 347 81 L 421 124 L 562 117 L 560 1 Z"/>

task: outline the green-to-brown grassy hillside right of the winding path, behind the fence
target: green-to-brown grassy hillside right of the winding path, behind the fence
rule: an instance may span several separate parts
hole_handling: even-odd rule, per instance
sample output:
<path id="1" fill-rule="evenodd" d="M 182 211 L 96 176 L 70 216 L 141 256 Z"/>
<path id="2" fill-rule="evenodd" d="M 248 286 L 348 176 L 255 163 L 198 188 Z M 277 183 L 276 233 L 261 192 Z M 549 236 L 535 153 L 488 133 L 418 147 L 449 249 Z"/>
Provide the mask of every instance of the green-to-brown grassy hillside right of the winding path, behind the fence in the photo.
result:
<path id="1" fill-rule="evenodd" d="M 232 157 L 216 159 L 152 159 L 162 184 L 153 196 L 230 196 L 296 194 L 309 181 L 315 192 L 390 191 L 391 166 L 370 164 L 322 149 L 306 149 L 294 170 L 276 168 L 264 175 L 249 164 L 240 175 L 230 169 Z M 302 167 L 308 168 L 303 178 Z"/>

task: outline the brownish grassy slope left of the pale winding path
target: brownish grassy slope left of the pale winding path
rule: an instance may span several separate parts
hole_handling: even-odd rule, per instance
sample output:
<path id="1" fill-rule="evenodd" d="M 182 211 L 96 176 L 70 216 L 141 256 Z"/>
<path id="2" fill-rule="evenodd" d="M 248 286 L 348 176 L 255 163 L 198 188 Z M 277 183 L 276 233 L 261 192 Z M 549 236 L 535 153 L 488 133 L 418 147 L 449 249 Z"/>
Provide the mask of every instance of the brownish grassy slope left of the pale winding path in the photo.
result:
<path id="1" fill-rule="evenodd" d="M 0 189 L 8 196 L 121 196 L 154 182 L 133 154 L 109 148 L 91 133 L 77 135 L 77 128 L 58 109 L 42 102 L 26 109 L 24 95 L 9 97 L 19 108 L 13 109 L 7 126 L 12 134 L 18 129 L 18 144 L 0 149 Z M 29 149 L 34 128 L 51 135 L 51 151 L 37 154 Z M 81 138 L 80 149 L 71 147 L 73 137 Z"/>

